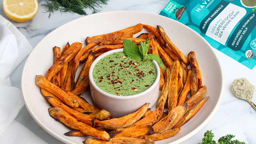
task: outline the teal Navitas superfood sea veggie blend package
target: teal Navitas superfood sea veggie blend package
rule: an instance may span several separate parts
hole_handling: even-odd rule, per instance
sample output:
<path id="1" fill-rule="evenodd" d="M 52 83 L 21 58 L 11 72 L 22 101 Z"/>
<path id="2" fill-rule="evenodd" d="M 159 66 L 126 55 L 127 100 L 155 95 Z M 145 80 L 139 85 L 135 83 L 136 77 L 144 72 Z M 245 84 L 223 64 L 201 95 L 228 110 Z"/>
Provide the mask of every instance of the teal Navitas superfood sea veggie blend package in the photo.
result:
<path id="1" fill-rule="evenodd" d="M 246 67 L 256 65 L 256 0 L 170 0 L 160 15 L 192 28 Z"/>

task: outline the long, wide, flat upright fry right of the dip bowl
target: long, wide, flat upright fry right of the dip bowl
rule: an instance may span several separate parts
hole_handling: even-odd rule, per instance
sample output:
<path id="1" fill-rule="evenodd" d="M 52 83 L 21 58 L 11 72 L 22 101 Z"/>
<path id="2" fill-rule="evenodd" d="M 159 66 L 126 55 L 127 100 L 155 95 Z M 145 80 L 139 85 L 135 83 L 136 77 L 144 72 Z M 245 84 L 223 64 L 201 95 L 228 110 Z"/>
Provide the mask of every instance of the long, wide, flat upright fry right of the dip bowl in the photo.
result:
<path id="1" fill-rule="evenodd" d="M 169 82 L 168 90 L 168 111 L 175 108 L 178 103 L 178 91 L 179 91 L 179 72 L 180 72 L 180 62 L 175 60 L 170 67 L 171 77 Z"/>

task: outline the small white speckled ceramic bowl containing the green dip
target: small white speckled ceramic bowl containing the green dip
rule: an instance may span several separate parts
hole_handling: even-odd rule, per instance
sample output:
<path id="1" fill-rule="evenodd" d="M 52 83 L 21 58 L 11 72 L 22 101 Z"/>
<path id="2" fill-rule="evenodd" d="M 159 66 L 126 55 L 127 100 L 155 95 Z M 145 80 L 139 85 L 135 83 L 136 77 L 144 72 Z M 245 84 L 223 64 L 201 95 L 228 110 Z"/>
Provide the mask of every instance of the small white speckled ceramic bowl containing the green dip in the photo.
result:
<path id="1" fill-rule="evenodd" d="M 152 86 L 150 86 L 144 92 L 138 93 L 136 95 L 130 96 L 117 96 L 109 94 L 103 90 L 101 90 L 93 81 L 92 71 L 95 64 L 106 55 L 109 55 L 113 52 L 123 51 L 121 49 L 114 49 L 97 57 L 93 63 L 91 64 L 89 70 L 89 80 L 90 80 L 90 92 L 93 104 L 100 109 L 106 109 L 109 111 L 114 117 L 121 117 L 127 115 L 129 113 L 135 112 L 139 108 L 141 108 L 145 103 L 150 103 L 149 108 L 152 108 L 159 96 L 159 80 L 160 80 L 160 69 L 157 62 L 154 60 L 157 70 L 157 77 Z M 125 85 L 125 84 L 124 84 Z"/>

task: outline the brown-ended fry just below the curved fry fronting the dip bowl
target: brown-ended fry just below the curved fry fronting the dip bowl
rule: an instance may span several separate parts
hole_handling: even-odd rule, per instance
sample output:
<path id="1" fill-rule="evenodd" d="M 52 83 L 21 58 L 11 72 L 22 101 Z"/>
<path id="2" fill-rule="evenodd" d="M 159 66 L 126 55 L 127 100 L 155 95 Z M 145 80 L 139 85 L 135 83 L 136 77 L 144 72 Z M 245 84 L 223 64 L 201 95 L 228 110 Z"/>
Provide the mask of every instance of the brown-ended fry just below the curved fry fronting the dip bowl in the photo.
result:
<path id="1" fill-rule="evenodd" d="M 151 125 L 136 125 L 129 128 L 124 128 L 119 131 L 109 132 L 109 136 L 113 137 L 132 137 L 136 138 L 141 135 L 151 135 L 153 134 L 154 129 Z"/>

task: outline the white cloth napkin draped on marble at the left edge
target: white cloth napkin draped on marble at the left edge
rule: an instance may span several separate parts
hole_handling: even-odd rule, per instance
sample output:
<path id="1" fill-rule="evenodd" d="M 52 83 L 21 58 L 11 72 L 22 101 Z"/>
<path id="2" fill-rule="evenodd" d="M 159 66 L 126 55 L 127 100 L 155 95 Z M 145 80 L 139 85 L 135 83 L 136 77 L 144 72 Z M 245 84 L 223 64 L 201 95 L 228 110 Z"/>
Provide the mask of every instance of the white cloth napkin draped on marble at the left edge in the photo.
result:
<path id="1" fill-rule="evenodd" d="M 13 87 L 11 74 L 32 51 L 25 36 L 0 15 L 0 143 L 45 143 L 14 120 L 24 106 L 21 90 Z M 21 73 L 22 70 L 19 69 Z M 20 82 L 20 81 L 19 81 Z"/>

